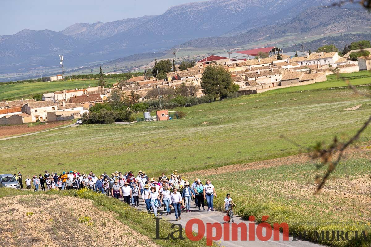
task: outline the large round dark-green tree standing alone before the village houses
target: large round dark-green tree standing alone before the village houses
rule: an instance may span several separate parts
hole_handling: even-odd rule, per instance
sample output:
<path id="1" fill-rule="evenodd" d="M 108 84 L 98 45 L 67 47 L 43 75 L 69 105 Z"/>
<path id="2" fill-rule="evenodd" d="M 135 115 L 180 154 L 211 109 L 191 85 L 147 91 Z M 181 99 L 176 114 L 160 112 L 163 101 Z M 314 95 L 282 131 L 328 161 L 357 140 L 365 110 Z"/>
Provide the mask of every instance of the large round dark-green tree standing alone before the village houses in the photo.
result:
<path id="1" fill-rule="evenodd" d="M 201 87 L 203 93 L 212 95 L 214 100 L 218 97 L 223 100 L 232 87 L 231 74 L 221 66 L 207 66 L 202 73 Z"/>

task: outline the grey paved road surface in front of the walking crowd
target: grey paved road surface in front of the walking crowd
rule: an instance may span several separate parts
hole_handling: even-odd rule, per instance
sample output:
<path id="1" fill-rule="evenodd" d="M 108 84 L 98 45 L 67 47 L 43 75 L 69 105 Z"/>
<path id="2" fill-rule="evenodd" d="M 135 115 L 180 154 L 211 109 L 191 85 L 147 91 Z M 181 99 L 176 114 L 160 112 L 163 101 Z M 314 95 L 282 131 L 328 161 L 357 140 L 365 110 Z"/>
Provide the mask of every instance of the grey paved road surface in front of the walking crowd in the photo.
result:
<path id="1" fill-rule="evenodd" d="M 207 206 L 205 206 L 205 211 L 199 211 L 198 208 L 195 208 L 195 204 L 194 202 L 191 202 L 191 212 L 187 213 L 185 210 L 182 210 L 181 211 L 181 219 L 176 221 L 175 220 L 175 213 L 174 213 L 174 210 L 171 211 L 171 214 L 170 215 L 166 215 L 166 213 L 163 211 L 163 208 L 160 208 L 158 209 L 158 213 L 160 213 L 160 216 L 161 218 L 165 218 L 167 219 L 170 223 L 172 224 L 181 224 L 183 226 L 183 234 L 185 236 L 185 225 L 187 224 L 188 220 L 192 219 L 192 218 L 197 218 L 197 219 L 200 219 L 202 220 L 204 223 L 224 223 L 225 221 L 223 221 L 223 217 L 224 217 L 224 213 L 222 212 L 219 212 L 219 211 L 207 211 Z M 147 210 L 145 209 L 145 204 L 142 205 L 142 200 L 141 198 L 139 198 L 139 207 L 137 208 L 138 210 L 140 211 L 143 211 L 143 212 L 147 212 Z M 201 208 L 202 209 L 202 208 Z M 251 223 L 251 221 L 246 221 L 246 220 L 243 220 L 241 217 L 234 217 L 234 222 L 235 223 L 245 223 L 245 224 L 248 224 L 248 223 Z M 257 224 L 255 224 L 255 229 L 256 229 L 256 226 Z M 177 228 L 175 228 L 177 229 Z M 264 229 L 264 228 L 263 228 Z M 198 231 L 197 229 L 197 225 L 194 224 L 193 225 L 193 231 Z M 249 241 L 249 230 L 247 230 L 247 241 L 242 241 L 241 240 L 241 228 L 239 228 L 238 230 L 238 240 L 236 241 L 224 241 L 222 237 L 222 239 L 220 240 L 221 243 L 220 243 L 220 246 L 225 246 L 225 247 L 271 247 L 271 246 L 274 246 L 274 247 L 321 247 L 321 245 L 319 244 L 315 244 L 315 243 L 311 243 L 311 242 L 308 242 L 308 241 L 302 241 L 302 240 L 292 240 L 292 237 L 289 237 L 289 240 L 288 241 L 283 241 L 282 240 L 282 233 L 280 233 L 280 241 L 274 241 L 273 240 L 273 236 L 270 240 L 267 240 L 267 241 L 261 241 L 259 240 L 257 237 L 256 237 L 256 234 L 255 234 L 255 241 Z M 214 236 L 215 236 L 215 232 L 216 231 L 213 231 L 214 233 Z M 256 231 L 254 231 L 256 232 Z M 206 235 L 206 231 L 205 231 L 205 235 Z M 265 231 L 263 230 L 263 236 L 265 236 Z M 219 242 L 216 241 L 217 243 Z"/>

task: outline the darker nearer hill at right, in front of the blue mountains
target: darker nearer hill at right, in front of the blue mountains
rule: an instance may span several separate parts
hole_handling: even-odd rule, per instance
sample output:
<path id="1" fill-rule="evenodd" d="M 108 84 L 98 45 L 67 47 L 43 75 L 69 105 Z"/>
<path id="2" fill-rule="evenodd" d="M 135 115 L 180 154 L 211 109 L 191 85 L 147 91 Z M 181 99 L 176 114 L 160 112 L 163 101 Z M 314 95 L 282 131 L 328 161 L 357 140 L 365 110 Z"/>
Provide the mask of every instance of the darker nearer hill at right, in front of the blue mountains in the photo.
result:
<path id="1" fill-rule="evenodd" d="M 311 7 L 279 25 L 267 25 L 229 37 L 206 37 L 190 40 L 183 43 L 182 46 L 195 48 L 233 47 L 245 45 L 246 40 L 250 43 L 269 43 L 273 39 L 298 40 L 316 35 L 369 31 L 369 26 L 371 26 L 371 15 L 363 9 Z"/>

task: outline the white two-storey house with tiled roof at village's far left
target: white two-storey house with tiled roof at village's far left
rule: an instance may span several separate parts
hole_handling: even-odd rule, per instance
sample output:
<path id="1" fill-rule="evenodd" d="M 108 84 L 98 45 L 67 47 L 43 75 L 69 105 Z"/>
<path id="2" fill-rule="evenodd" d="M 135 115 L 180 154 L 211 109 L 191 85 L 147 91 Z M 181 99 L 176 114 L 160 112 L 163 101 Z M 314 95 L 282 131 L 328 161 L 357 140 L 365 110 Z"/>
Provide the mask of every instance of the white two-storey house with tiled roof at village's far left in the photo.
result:
<path id="1" fill-rule="evenodd" d="M 58 104 L 52 100 L 37 101 L 25 104 L 22 107 L 22 112 L 31 115 L 32 121 L 47 121 L 47 112 L 57 111 Z"/>

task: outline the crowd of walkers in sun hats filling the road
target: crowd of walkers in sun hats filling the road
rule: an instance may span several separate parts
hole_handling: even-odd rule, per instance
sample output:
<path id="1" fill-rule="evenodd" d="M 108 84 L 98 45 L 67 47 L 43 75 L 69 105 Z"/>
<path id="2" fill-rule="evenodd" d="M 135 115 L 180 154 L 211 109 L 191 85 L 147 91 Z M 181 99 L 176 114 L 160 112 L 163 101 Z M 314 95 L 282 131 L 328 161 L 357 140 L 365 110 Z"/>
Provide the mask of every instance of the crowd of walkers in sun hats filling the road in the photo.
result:
<path id="1" fill-rule="evenodd" d="M 207 211 L 214 211 L 213 200 L 217 197 L 215 188 L 210 180 L 203 184 L 201 180 L 195 178 L 191 183 L 183 180 L 181 175 L 171 174 L 167 177 L 162 173 L 158 179 L 149 178 L 145 171 L 139 170 L 134 176 L 132 171 L 122 174 L 119 171 L 106 173 L 96 176 L 92 171 L 89 174 L 75 171 L 63 171 L 62 174 L 48 173 L 27 177 L 25 180 L 27 190 L 34 186 L 34 191 L 39 190 L 79 190 L 88 188 L 97 193 L 112 196 L 124 201 L 132 207 L 139 207 L 139 196 L 142 198 L 142 205 L 148 213 L 153 213 L 155 217 L 158 210 L 163 207 L 164 213 L 171 214 L 174 209 L 176 220 L 180 219 L 181 210 L 191 211 L 191 201 L 194 201 L 195 208 L 205 210 L 205 200 Z M 19 172 L 14 177 L 20 182 L 23 188 L 23 177 Z M 201 209 L 202 208 L 202 209 Z"/>

